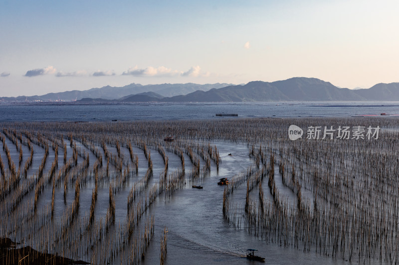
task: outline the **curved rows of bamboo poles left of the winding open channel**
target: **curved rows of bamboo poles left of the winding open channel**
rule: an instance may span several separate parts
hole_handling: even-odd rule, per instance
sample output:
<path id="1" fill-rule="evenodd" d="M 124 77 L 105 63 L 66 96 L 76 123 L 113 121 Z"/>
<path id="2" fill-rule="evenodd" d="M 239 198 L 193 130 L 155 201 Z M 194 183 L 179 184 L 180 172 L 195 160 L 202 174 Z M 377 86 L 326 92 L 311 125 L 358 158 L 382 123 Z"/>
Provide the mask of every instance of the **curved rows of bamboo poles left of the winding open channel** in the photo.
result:
<path id="1" fill-rule="evenodd" d="M 11 130 L 13 130 L 15 134 L 18 133 L 15 129 Z M 7 225 L 3 227 L 1 234 L 8 234 L 6 231 L 9 231 L 12 227 L 8 226 L 8 224 L 19 224 L 18 227 L 12 227 L 14 228 L 14 231 L 18 231 L 19 233 L 17 235 L 17 232 L 15 232 L 14 238 L 21 239 L 25 245 L 32 246 L 42 252 L 56 252 L 62 257 L 69 257 L 72 259 L 78 259 L 78 257 L 91 257 L 90 261 L 96 264 L 113 262 L 115 261 L 116 256 L 118 256 L 118 253 L 126 252 L 130 258 L 123 260 L 122 256 L 120 256 L 118 259 L 120 259 L 121 262 L 123 261 L 123 263 L 127 264 L 139 263 L 140 260 L 144 258 L 152 234 L 154 233 L 154 218 L 151 219 L 151 229 L 149 229 L 149 226 L 147 225 L 145 226 L 143 233 L 138 232 L 140 231 L 141 216 L 149 209 L 149 207 L 151 207 L 160 194 L 165 193 L 165 197 L 172 196 L 177 189 L 184 187 L 186 184 L 184 170 L 179 169 L 168 176 L 167 171 L 169 158 L 165 152 L 165 149 L 168 150 L 168 148 L 162 146 L 160 143 L 158 143 L 156 147 L 158 152 L 161 154 L 165 165 L 164 170 L 160 175 L 159 182 L 149 187 L 149 180 L 153 175 L 153 163 L 151 160 L 151 153 L 145 143 L 142 145 L 140 144 L 140 141 L 129 141 L 127 144 L 121 145 L 119 140 L 117 140 L 115 146 L 117 154 L 113 154 L 107 147 L 113 147 L 111 142 L 106 142 L 105 145 L 101 145 L 103 149 L 101 152 L 101 149 L 98 148 L 99 145 L 96 142 L 88 140 L 84 136 L 78 139 L 74 137 L 74 133 L 67 133 L 56 134 L 57 137 L 54 137 L 51 133 L 45 131 L 42 132 L 43 131 L 41 131 L 41 133 L 29 132 L 24 130 L 19 134 L 20 139 L 18 139 L 20 145 L 27 145 L 29 150 L 32 150 L 31 154 L 33 154 L 34 149 L 42 148 L 44 149 L 44 157 L 41 160 L 37 172 L 35 172 L 33 176 L 29 176 L 22 186 L 17 185 L 17 192 L 14 192 L 11 196 L 4 194 L 4 198 L 7 199 L 7 202 L 9 198 L 12 199 L 10 201 L 11 203 L 8 202 L 6 205 L 1 207 L 1 212 L 9 212 L 9 209 L 12 208 L 11 213 L 15 218 L 18 218 L 19 222 L 15 219 L 14 222 L 11 221 L 12 219 L 8 219 Z M 65 139 L 68 139 L 69 150 L 66 143 L 64 143 Z M 140 196 L 136 204 L 128 207 L 128 212 L 132 213 L 131 216 L 134 216 L 134 218 L 130 218 L 128 213 L 126 221 L 123 221 L 126 224 L 119 223 L 119 225 L 117 225 L 115 222 L 116 205 L 114 196 L 118 191 L 125 188 L 127 179 L 136 176 L 138 173 L 138 156 L 133 153 L 133 143 L 136 147 L 144 150 L 144 154 L 148 159 L 149 167 L 146 175 L 138 182 L 135 182 L 132 186 L 133 190 L 137 187 L 137 189 L 140 190 L 140 194 L 138 194 L 138 192 L 133 193 L 139 197 L 139 195 L 141 195 L 145 190 L 148 190 L 148 192 L 143 194 L 143 196 Z M 154 142 L 149 142 L 148 144 L 153 147 L 153 143 Z M 86 151 L 78 145 L 84 147 Z M 122 154 L 122 146 L 129 150 L 129 161 Z M 182 162 L 182 167 L 184 167 L 183 152 L 191 153 L 193 158 L 196 155 L 194 155 L 191 147 L 188 147 L 189 150 L 186 150 L 183 146 L 179 146 L 180 145 L 176 145 L 173 149 L 180 154 L 179 157 Z M 47 162 L 50 148 L 53 151 L 51 157 L 54 159 L 52 162 Z M 59 167 L 59 148 L 63 150 L 63 164 L 61 164 L 59 170 L 57 170 Z M 72 154 L 68 159 L 67 154 L 69 154 L 69 152 Z M 97 158 L 94 164 L 90 164 L 88 152 L 91 152 Z M 107 164 L 111 163 L 115 166 L 115 171 L 109 172 L 109 169 L 102 169 L 103 157 L 107 159 Z M 29 164 L 31 164 L 31 161 L 32 158 L 30 158 Z M 197 161 L 199 164 L 199 160 Z M 51 164 L 51 167 L 48 166 L 49 164 Z M 122 167 L 118 167 L 118 165 L 123 165 L 123 174 L 121 174 Z M 199 166 L 195 169 L 197 172 L 198 168 Z M 208 168 L 210 170 L 209 165 Z M 94 182 L 90 212 L 81 213 L 80 190 L 82 186 L 87 185 L 87 182 L 90 181 L 90 179 Z M 4 182 L 5 181 L 2 183 Z M 74 199 L 72 203 L 68 205 L 66 197 L 72 183 L 74 186 Z M 95 209 L 98 189 L 105 183 L 109 183 L 109 207 L 105 218 L 97 219 Z M 43 190 L 45 190 L 47 186 L 52 187 L 51 203 L 46 203 L 42 206 L 44 208 L 39 208 L 40 194 L 42 194 Z M 64 190 L 63 197 L 66 205 L 62 214 L 55 212 L 55 204 L 57 203 L 56 190 L 59 188 L 63 188 Z M 30 194 L 32 189 L 34 190 L 34 197 L 24 199 Z M 135 199 L 136 198 L 134 197 L 133 201 Z M 20 202 L 23 201 L 25 201 L 23 203 L 24 207 L 18 207 Z M 11 207 L 10 204 L 14 205 L 14 207 Z M 26 205 L 27 207 L 25 207 Z M 42 205 L 42 203 L 40 205 Z M 45 209 L 45 211 L 43 212 L 42 209 Z M 133 229 L 130 227 L 129 229 L 129 226 L 127 226 L 129 223 L 135 223 L 135 227 L 133 227 Z M 26 226 L 30 225 L 34 229 L 26 229 Z M 119 232 L 116 233 L 115 230 Z M 149 233 L 147 230 L 152 232 Z M 31 237 L 30 235 L 35 235 L 35 237 L 33 238 L 33 236 Z M 129 240 L 124 239 L 124 235 L 130 235 L 129 238 L 131 237 L 130 243 L 133 246 L 131 251 L 128 250 Z M 79 242 L 86 242 L 86 244 L 79 244 Z M 104 251 L 106 254 L 99 255 L 99 252 L 103 253 Z M 162 261 L 164 261 L 166 257 L 166 239 L 163 240 L 161 252 L 163 253 Z"/>

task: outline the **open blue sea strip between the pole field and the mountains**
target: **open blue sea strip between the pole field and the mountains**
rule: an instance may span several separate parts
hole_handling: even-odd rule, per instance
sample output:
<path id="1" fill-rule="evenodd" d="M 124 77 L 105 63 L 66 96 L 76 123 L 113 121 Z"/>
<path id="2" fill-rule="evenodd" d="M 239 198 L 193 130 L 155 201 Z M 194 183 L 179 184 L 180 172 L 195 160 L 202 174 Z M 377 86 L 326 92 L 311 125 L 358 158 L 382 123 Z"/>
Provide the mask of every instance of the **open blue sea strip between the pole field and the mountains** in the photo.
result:
<path id="1" fill-rule="evenodd" d="M 135 103 L 135 104 L 2 104 L 0 121 L 110 121 L 220 119 L 239 117 L 399 115 L 399 102 L 274 102 L 274 103 Z"/>

